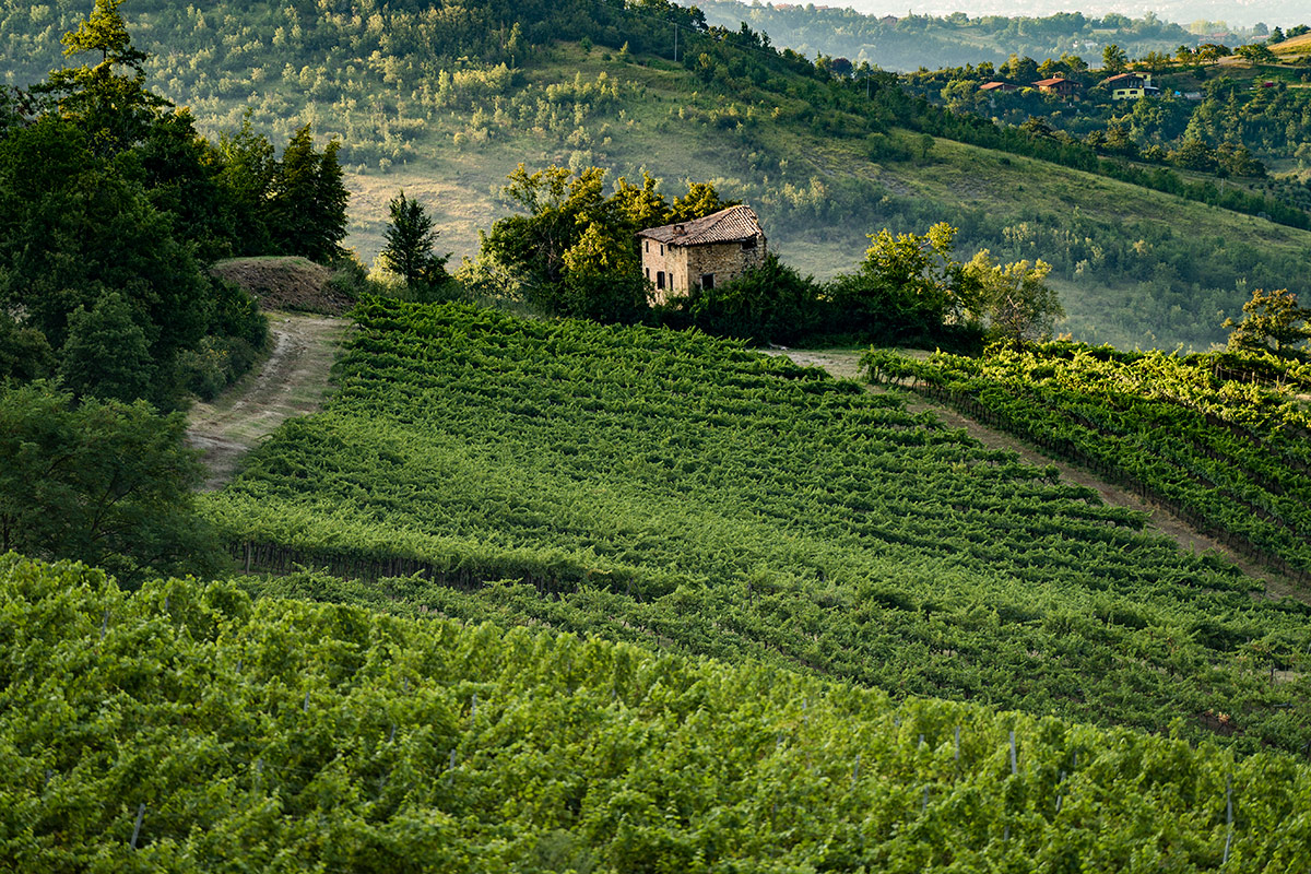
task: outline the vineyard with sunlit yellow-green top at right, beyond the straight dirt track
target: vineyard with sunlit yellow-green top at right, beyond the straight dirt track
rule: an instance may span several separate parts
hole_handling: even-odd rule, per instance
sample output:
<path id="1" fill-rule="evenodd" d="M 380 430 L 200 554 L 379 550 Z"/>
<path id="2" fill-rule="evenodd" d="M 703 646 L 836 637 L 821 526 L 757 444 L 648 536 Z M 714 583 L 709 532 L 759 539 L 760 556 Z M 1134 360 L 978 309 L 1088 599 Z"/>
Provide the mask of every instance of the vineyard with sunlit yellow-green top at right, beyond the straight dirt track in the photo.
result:
<path id="1" fill-rule="evenodd" d="M 1194 527 L 1311 583 L 1311 367 L 1273 355 L 1116 352 L 1074 343 L 911 362 L 906 384 L 1137 489 Z"/>

